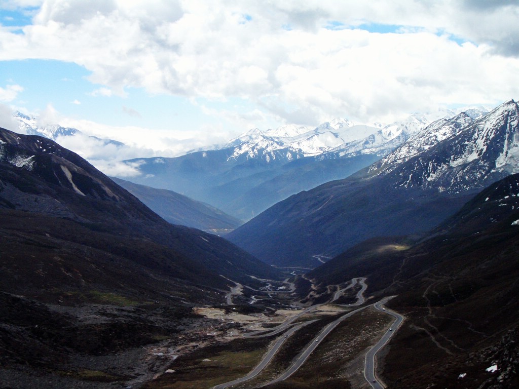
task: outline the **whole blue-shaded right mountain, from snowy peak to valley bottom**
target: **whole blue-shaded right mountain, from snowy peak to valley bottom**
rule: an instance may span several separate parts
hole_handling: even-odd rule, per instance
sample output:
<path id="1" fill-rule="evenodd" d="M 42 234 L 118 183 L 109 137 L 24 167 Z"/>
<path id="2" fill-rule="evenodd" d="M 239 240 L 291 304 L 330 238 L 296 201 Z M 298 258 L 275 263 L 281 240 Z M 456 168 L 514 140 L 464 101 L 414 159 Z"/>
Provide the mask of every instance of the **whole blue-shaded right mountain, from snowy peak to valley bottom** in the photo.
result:
<path id="1" fill-rule="evenodd" d="M 473 123 L 466 115 L 433 123 L 412 140 L 426 146 L 410 158 L 404 144 L 354 176 L 272 206 L 227 238 L 267 263 L 315 267 L 313 256 L 365 239 L 425 232 L 518 169 L 518 118 L 509 101 Z M 440 133 L 452 135 L 430 146 Z"/>

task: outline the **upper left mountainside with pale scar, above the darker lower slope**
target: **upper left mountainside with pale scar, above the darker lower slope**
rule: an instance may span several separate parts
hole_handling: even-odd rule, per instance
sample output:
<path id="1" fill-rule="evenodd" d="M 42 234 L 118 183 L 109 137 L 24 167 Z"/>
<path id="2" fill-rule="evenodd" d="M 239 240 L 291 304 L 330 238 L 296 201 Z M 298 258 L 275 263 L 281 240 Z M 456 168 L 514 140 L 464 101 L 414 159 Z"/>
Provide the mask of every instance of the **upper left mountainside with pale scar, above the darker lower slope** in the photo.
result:
<path id="1" fill-rule="evenodd" d="M 65 217 L 118 238 L 147 239 L 174 250 L 193 267 L 250 281 L 274 270 L 227 241 L 172 226 L 128 191 L 58 144 L 0 131 L 0 204 L 7 209 Z"/>

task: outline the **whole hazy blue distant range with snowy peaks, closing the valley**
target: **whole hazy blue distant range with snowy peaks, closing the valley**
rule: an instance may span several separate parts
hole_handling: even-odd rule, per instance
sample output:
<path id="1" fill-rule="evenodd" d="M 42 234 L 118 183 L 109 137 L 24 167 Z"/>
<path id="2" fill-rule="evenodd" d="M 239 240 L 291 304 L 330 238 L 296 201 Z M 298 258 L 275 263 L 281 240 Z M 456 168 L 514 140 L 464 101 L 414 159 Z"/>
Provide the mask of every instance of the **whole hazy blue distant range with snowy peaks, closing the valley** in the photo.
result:
<path id="1" fill-rule="evenodd" d="M 473 115 L 484 112 L 474 109 Z M 302 190 L 341 179 L 370 165 L 450 110 L 414 114 L 388 126 L 334 119 L 316 127 L 252 129 L 224 145 L 176 158 L 127 161 L 134 183 L 182 193 L 241 220 Z"/>

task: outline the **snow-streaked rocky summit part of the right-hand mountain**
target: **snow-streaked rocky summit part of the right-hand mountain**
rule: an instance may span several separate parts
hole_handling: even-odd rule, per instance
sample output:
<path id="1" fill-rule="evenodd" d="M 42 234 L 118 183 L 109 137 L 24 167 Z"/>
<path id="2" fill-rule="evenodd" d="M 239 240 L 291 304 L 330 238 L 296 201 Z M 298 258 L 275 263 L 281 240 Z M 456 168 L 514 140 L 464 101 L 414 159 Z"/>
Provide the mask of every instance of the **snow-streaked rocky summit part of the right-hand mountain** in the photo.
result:
<path id="1" fill-rule="evenodd" d="M 483 188 L 519 172 L 519 106 L 510 100 L 475 121 L 460 114 L 435 122 L 377 165 L 379 174 L 397 173 L 401 187 L 450 193 Z"/>

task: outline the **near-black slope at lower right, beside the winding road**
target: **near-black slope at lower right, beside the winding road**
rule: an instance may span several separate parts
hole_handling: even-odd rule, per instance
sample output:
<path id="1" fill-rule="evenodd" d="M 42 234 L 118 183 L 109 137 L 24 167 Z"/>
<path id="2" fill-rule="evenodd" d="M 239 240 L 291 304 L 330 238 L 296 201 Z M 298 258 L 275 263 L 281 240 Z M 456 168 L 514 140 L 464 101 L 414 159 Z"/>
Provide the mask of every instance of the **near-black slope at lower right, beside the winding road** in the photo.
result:
<path id="1" fill-rule="evenodd" d="M 380 364 L 389 387 L 519 383 L 518 189 L 519 175 L 506 177 L 427 240 L 366 241 L 307 274 L 321 285 L 367 276 L 375 296 L 397 295 L 388 305 L 406 322 Z"/>

